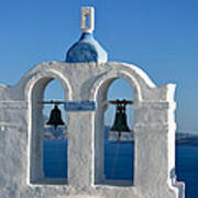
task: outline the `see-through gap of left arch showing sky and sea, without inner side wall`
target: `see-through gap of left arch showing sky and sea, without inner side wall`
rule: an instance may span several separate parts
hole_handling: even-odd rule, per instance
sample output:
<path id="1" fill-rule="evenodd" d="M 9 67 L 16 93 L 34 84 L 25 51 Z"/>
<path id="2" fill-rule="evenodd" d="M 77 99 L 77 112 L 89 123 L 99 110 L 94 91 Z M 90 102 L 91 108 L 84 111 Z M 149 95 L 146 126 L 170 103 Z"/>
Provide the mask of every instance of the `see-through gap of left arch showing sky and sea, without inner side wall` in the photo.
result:
<path id="1" fill-rule="evenodd" d="M 44 92 L 44 101 L 64 100 L 64 90 L 57 80 L 51 81 Z M 44 139 L 43 139 L 43 172 L 45 178 L 67 178 L 67 117 L 63 106 L 58 106 L 62 112 L 62 120 L 65 125 L 48 125 L 50 117 L 54 105 L 45 105 L 43 108 L 44 116 Z M 57 132 L 57 133 L 56 133 Z"/>

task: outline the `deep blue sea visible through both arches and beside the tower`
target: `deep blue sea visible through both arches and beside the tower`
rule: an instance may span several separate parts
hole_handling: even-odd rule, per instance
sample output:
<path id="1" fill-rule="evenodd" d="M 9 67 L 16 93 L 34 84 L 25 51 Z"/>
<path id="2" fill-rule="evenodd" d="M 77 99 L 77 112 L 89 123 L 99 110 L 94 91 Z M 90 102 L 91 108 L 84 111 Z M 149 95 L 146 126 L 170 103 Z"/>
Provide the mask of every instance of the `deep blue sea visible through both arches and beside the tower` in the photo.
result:
<path id="1" fill-rule="evenodd" d="M 67 177 L 67 140 L 44 141 L 45 177 Z M 133 180 L 134 143 L 105 140 L 106 179 Z M 198 146 L 176 145 L 177 180 L 186 185 L 186 198 L 198 198 Z"/>

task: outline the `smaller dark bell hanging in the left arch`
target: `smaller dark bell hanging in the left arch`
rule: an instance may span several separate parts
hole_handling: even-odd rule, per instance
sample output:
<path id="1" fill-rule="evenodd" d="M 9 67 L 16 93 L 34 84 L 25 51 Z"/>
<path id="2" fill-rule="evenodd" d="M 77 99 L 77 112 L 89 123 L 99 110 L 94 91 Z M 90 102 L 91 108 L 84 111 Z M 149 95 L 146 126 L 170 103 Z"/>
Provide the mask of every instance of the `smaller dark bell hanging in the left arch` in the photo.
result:
<path id="1" fill-rule="evenodd" d="M 53 125 L 55 134 L 57 134 L 56 128 L 58 125 L 65 125 L 64 121 L 62 120 L 62 111 L 58 109 L 57 105 L 55 105 L 54 109 L 52 110 L 50 120 L 46 125 Z"/>

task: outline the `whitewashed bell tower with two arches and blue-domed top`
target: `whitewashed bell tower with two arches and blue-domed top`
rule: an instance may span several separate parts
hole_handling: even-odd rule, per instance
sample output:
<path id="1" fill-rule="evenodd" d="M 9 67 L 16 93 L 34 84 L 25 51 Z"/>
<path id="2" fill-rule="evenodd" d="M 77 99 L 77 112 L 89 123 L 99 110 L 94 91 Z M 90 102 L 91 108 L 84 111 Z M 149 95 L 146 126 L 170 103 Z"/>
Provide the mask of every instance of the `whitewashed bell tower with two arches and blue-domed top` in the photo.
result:
<path id="1" fill-rule="evenodd" d="M 139 67 L 108 63 L 94 38 L 94 8 L 81 8 L 81 37 L 65 62 L 42 63 L 13 87 L 0 86 L 0 197 L 184 198 L 175 169 L 175 85 L 156 87 Z M 114 79 L 134 94 L 134 180 L 109 185 L 103 176 L 103 114 Z M 44 177 L 43 114 L 46 85 L 57 79 L 66 92 L 68 177 Z"/>

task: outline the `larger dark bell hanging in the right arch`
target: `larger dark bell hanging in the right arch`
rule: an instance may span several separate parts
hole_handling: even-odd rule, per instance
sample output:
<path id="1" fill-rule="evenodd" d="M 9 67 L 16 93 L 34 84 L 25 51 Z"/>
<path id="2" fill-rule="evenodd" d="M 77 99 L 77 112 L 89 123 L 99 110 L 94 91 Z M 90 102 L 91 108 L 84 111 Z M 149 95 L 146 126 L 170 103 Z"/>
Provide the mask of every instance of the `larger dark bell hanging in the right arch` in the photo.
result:
<path id="1" fill-rule="evenodd" d="M 128 102 L 125 100 L 116 100 L 113 105 L 117 106 L 117 111 L 114 123 L 111 127 L 110 131 L 118 132 L 120 138 L 121 132 L 131 132 L 130 128 L 128 127 L 125 114 L 125 106 L 128 105 Z"/>

